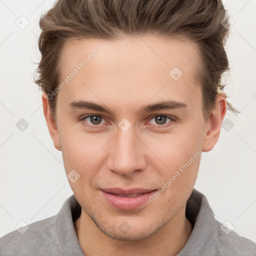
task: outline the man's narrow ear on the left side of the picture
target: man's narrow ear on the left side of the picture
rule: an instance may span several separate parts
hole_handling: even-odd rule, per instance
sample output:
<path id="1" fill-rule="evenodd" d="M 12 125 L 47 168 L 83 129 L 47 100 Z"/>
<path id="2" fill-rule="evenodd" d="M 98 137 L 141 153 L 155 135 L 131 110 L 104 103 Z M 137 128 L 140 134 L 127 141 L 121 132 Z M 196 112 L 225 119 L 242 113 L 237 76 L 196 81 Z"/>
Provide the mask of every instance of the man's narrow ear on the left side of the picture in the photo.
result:
<path id="1" fill-rule="evenodd" d="M 48 98 L 45 92 L 42 93 L 42 107 L 43 107 L 43 114 L 48 126 L 48 130 L 50 133 L 50 136 L 53 140 L 54 146 L 56 149 L 58 149 L 59 151 L 61 151 L 61 147 L 60 147 L 60 143 L 59 143 L 59 137 L 58 137 L 58 128 L 57 128 L 57 124 L 56 121 L 54 120 L 54 118 L 52 117 L 51 111 L 50 111 L 50 107 L 48 104 Z"/>

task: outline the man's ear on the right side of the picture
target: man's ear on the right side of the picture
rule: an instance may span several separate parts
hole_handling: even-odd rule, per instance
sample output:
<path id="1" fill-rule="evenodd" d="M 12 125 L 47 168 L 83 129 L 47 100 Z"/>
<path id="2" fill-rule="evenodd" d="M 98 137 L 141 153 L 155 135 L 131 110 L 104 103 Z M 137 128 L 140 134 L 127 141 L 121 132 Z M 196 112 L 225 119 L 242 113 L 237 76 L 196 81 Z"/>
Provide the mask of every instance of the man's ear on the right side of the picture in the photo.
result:
<path id="1" fill-rule="evenodd" d="M 222 120 L 226 113 L 226 94 L 216 95 L 215 106 L 211 111 L 204 128 L 202 151 L 210 151 L 218 141 Z"/>

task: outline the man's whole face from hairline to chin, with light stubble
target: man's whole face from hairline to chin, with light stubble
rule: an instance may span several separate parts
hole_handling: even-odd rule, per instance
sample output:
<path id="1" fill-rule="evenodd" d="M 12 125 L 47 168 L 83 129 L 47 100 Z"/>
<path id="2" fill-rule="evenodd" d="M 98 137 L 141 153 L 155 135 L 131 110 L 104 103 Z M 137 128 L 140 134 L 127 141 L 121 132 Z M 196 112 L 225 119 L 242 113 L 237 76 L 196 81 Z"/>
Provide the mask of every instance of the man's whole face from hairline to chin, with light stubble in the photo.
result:
<path id="1" fill-rule="evenodd" d="M 153 35 L 63 48 L 61 81 L 69 78 L 57 93 L 51 136 L 66 174 L 74 173 L 69 183 L 82 214 L 109 237 L 145 238 L 184 214 L 212 140 L 197 51 Z"/>

